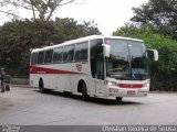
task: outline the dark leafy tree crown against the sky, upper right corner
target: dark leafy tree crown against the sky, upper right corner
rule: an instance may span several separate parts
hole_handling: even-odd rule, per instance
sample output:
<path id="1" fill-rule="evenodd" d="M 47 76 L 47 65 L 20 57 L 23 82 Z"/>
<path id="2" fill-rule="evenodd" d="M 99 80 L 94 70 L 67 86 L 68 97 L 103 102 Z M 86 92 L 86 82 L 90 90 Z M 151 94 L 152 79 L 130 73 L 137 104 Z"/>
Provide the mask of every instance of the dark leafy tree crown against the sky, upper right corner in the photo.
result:
<path id="1" fill-rule="evenodd" d="M 133 22 L 153 23 L 158 33 L 177 38 L 176 0 L 149 0 L 139 8 L 133 8 Z"/>

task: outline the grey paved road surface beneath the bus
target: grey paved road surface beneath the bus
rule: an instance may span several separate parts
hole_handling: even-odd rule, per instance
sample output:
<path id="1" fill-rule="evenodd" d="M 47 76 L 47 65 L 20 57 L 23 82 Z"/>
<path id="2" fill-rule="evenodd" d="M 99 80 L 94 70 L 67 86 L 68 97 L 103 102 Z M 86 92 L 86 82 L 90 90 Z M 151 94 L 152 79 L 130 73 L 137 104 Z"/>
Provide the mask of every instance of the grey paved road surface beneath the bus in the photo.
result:
<path id="1" fill-rule="evenodd" d="M 40 94 L 37 88 L 0 92 L 0 124 L 14 125 L 169 125 L 177 124 L 177 94 L 114 99 Z"/>

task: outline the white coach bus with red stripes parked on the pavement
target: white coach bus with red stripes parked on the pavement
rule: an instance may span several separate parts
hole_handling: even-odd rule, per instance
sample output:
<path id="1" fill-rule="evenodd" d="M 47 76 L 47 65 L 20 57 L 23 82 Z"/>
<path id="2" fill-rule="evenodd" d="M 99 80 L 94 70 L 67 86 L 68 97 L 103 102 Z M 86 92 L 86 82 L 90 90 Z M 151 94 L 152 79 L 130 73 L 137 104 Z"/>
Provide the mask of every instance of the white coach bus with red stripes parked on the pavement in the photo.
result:
<path id="1" fill-rule="evenodd" d="M 153 51 L 154 61 L 158 52 Z M 93 97 L 147 96 L 148 57 L 140 40 L 91 35 L 31 52 L 30 85 Z"/>

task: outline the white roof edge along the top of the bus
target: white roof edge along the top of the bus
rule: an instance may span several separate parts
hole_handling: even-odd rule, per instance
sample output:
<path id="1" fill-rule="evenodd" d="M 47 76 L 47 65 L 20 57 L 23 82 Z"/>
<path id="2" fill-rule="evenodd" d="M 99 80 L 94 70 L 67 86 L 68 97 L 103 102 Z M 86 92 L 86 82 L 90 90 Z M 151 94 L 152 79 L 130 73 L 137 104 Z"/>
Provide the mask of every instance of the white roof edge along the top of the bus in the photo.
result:
<path id="1" fill-rule="evenodd" d="M 63 43 L 61 43 L 61 44 L 55 44 L 55 45 L 45 46 L 45 47 L 41 47 L 41 48 L 34 48 L 34 50 L 32 50 L 32 52 L 45 51 L 45 50 L 50 50 L 50 48 L 55 48 L 55 47 L 58 47 L 58 46 L 70 45 L 70 44 L 73 44 L 73 43 L 81 43 L 81 42 L 85 42 L 85 41 L 94 40 L 94 38 L 118 38 L 118 40 L 126 40 L 126 41 L 143 42 L 142 40 L 132 38 L 132 37 L 90 35 L 90 36 L 85 36 L 85 37 L 81 37 L 81 38 L 75 38 L 75 40 L 66 41 L 66 42 L 63 42 Z"/>

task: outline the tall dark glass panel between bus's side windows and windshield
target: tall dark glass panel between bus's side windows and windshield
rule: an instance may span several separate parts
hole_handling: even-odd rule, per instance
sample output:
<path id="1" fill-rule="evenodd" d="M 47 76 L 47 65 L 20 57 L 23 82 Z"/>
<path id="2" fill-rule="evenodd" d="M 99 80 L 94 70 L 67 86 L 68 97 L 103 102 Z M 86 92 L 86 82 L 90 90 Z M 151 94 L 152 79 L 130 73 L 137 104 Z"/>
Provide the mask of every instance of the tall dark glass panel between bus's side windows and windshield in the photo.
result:
<path id="1" fill-rule="evenodd" d="M 104 79 L 103 40 L 91 41 L 91 72 L 92 77 Z"/>

